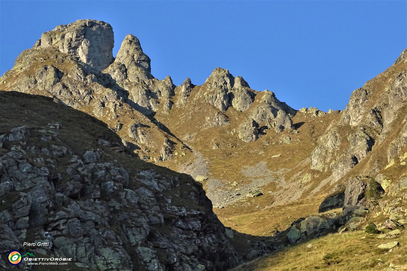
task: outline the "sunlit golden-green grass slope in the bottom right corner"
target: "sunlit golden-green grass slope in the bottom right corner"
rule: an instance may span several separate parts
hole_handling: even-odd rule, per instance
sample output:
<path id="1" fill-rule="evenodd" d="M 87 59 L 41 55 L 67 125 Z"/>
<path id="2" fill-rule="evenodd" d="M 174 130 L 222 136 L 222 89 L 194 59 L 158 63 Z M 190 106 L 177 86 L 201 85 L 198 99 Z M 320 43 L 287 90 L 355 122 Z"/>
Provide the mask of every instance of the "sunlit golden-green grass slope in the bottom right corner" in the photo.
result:
<path id="1" fill-rule="evenodd" d="M 361 239 L 363 238 L 364 239 Z M 399 241 L 392 252 L 377 249 L 385 243 Z M 311 245 L 311 247 L 307 247 Z M 329 234 L 299 245 L 258 258 L 230 271 L 291 271 L 291 270 L 384 270 L 392 263 L 407 268 L 407 234 L 391 239 L 378 239 L 363 231 Z M 378 263 L 383 265 L 379 266 Z M 393 270 L 393 269 L 392 269 Z M 404 270 L 404 269 L 397 269 Z"/>

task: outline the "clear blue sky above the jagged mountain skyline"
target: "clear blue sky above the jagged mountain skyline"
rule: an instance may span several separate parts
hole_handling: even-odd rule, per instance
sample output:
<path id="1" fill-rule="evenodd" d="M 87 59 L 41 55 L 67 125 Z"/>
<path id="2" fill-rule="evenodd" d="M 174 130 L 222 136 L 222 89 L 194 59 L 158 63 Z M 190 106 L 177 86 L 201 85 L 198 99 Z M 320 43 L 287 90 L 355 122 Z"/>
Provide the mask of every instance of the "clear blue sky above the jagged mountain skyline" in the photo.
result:
<path id="1" fill-rule="evenodd" d="M 407 1 L 0 1 L 0 72 L 45 31 L 78 19 L 136 35 L 152 74 L 204 83 L 216 67 L 295 109 L 344 109 L 407 47 Z"/>

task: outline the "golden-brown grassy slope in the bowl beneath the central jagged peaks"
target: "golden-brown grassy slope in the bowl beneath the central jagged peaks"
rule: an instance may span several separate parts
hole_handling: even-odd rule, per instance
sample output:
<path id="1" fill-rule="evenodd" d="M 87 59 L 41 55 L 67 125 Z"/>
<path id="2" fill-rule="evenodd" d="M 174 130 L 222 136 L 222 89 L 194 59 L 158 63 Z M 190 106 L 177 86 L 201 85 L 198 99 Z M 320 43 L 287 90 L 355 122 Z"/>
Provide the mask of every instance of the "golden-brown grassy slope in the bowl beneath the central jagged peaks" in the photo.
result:
<path id="1" fill-rule="evenodd" d="M 311 171 L 309 170 L 309 157 L 311 151 L 315 149 L 317 139 L 324 133 L 330 123 L 338 117 L 335 114 L 327 114 L 323 117 L 312 118 L 310 114 L 298 112 L 293 119 L 293 123 L 298 127 L 299 133 L 291 134 L 284 131 L 278 134 L 271 130 L 255 142 L 245 143 L 238 138 L 238 132 L 236 131 L 239 129 L 241 122 L 248 117 L 251 110 L 238 112 L 230 107 L 225 112 L 225 115 L 230 120 L 229 125 L 208 128 L 204 125 L 205 118 L 210 114 L 213 116 L 217 110 L 207 103 L 201 103 L 200 98 L 196 97 L 200 88 L 200 86 L 195 87 L 188 100 L 189 103 L 194 102 L 193 106 L 189 105 L 184 109 L 174 106 L 170 114 L 161 114 L 159 112 L 156 118 L 173 131 L 178 138 L 183 138 L 188 133 L 196 133 L 192 140 L 186 141 L 186 144 L 203 154 L 209 161 L 208 170 L 211 173 L 209 177 L 220 179 L 223 184 L 242 180 L 245 183 L 250 182 L 251 179 L 243 175 L 241 170 L 245 166 L 255 166 L 259 162 L 267 163 L 267 168 L 274 172 L 273 177 L 275 179 L 283 177 L 278 176 L 278 171 L 284 170 L 285 180 L 289 184 L 293 181 L 300 181 L 301 174 Z M 177 96 L 174 97 L 174 100 L 176 98 Z M 260 98 L 261 93 L 256 97 L 252 107 L 259 103 Z M 284 136 L 291 138 L 290 144 L 279 142 Z M 218 144 L 219 148 L 213 150 L 212 146 L 214 144 Z M 273 155 L 281 156 L 272 157 Z M 160 162 L 160 165 L 177 170 L 185 161 L 186 157 L 175 157 L 173 160 Z M 192 162 L 193 159 L 189 160 L 189 163 Z M 319 172 L 316 172 L 315 175 L 319 176 L 319 178 L 313 178 L 307 185 L 315 187 L 319 180 L 325 177 L 325 174 Z M 280 189 L 282 187 L 276 182 L 271 182 L 267 186 L 260 188 L 263 192 L 276 192 Z M 304 197 L 306 196 L 308 195 L 304 195 Z M 215 209 L 214 211 L 228 225 L 229 223 L 225 219 L 236 216 L 235 214 L 249 214 L 258 211 L 258 208 L 263 209 L 273 202 L 274 195 L 265 193 L 264 196 L 250 199 L 251 205 L 249 207 L 247 207 L 246 203 L 236 202 L 225 207 L 225 209 Z M 259 207 L 256 208 L 256 206 Z"/>

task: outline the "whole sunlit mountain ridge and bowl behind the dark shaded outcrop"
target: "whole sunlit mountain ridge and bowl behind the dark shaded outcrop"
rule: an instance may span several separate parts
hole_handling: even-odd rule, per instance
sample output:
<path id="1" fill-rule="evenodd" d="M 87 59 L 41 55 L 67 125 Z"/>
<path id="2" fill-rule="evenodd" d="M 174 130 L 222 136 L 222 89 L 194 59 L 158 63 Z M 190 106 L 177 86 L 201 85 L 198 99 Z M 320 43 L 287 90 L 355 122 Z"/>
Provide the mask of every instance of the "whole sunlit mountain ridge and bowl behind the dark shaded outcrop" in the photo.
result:
<path id="1" fill-rule="evenodd" d="M 158 80 L 151 74 L 151 60 L 135 36 L 125 37 L 116 58 L 113 42 L 105 22 L 57 26 L 22 52 L 1 77 L 0 90 L 49 96 L 95 116 L 142 160 L 191 175 L 203 184 L 221 221 L 238 231 L 235 235 L 272 236 L 249 245 L 249 253 L 235 245 L 240 259 L 358 229 L 376 217 L 397 216 L 403 225 L 403 210 L 394 205 L 404 200 L 405 189 L 406 50 L 355 90 L 344 111 L 325 113 L 292 109 L 273 92 L 254 91 L 222 68 L 203 85 L 187 78 L 175 86 L 170 76 Z M 383 198 L 376 205 L 366 196 L 372 187 Z M 321 212 L 344 210 L 321 215 L 294 210 L 289 219 L 283 212 L 274 233 L 259 233 L 261 223 L 245 228 L 252 225 L 250 214 L 263 220 L 280 206 L 301 202 L 300 210 L 311 199 L 321 199 Z M 388 224 L 376 220 L 379 227 Z M 186 264 L 197 267 L 195 260 Z"/>

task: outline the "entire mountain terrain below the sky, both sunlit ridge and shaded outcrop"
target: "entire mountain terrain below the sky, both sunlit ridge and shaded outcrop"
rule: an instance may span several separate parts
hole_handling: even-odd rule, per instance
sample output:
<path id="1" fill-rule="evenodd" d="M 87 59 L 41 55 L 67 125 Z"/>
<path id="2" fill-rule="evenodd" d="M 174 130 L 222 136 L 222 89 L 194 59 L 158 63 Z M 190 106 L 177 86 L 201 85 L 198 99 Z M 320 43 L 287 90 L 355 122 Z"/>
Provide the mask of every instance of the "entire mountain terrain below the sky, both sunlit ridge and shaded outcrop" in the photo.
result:
<path id="1" fill-rule="evenodd" d="M 407 49 L 323 112 L 225 68 L 159 80 L 121 38 L 60 25 L 0 78 L 1 269 L 407 269 Z"/>

